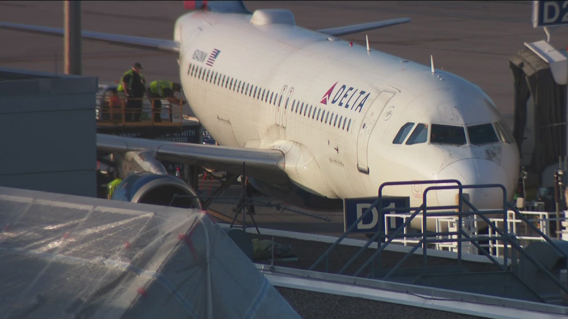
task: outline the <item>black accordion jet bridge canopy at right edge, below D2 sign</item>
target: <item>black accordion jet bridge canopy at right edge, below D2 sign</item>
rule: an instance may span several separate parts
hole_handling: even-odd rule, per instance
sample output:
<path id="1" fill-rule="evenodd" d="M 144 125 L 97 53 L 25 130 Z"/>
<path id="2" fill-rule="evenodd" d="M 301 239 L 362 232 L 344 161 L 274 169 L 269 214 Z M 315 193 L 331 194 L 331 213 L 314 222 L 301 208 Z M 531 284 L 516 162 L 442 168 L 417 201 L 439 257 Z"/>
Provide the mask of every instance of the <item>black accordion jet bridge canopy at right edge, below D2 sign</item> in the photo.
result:
<path id="1" fill-rule="evenodd" d="M 566 156 L 568 54 L 544 40 L 525 46 L 509 58 L 515 87 L 513 135 L 522 165 L 542 177 Z M 552 174 L 545 178 L 552 186 Z"/>

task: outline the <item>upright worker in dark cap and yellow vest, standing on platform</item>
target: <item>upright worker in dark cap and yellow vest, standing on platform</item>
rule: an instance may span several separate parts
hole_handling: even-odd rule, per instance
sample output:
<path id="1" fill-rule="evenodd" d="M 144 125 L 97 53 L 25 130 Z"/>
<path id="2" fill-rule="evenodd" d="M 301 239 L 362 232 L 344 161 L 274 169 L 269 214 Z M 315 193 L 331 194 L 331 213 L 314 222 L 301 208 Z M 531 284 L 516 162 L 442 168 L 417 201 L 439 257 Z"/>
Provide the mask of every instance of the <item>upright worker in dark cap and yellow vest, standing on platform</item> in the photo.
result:
<path id="1" fill-rule="evenodd" d="M 142 70 L 142 65 L 136 62 L 132 69 L 124 72 L 122 78 L 120 78 L 120 85 L 118 86 L 118 91 L 126 93 L 128 98 L 126 99 L 126 114 L 124 115 L 124 120 L 126 121 L 139 121 L 140 114 L 142 112 L 142 97 L 144 96 L 144 91 L 146 89 L 146 80 L 144 76 L 140 74 Z"/>

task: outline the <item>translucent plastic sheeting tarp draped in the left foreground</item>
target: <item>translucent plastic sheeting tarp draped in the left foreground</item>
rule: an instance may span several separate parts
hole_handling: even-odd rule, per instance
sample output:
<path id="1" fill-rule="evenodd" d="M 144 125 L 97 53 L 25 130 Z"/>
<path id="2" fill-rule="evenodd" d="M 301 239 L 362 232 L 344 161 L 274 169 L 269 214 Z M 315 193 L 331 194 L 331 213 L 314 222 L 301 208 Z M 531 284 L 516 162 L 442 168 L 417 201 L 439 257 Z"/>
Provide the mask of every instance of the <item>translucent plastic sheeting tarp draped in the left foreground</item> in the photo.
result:
<path id="1" fill-rule="evenodd" d="M 204 212 L 0 187 L 2 318 L 299 318 Z"/>

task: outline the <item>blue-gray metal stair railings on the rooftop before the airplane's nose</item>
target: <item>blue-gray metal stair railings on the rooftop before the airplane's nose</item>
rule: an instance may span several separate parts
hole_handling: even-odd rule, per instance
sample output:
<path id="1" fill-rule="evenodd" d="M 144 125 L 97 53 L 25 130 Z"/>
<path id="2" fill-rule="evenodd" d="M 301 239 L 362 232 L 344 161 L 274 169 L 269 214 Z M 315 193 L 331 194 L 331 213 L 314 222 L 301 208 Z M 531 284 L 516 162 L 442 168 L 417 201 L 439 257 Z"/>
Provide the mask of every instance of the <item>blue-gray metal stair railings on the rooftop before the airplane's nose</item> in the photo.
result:
<path id="1" fill-rule="evenodd" d="M 408 207 L 408 208 L 382 208 L 382 190 L 386 186 L 400 186 L 400 185 L 408 185 L 408 184 L 439 184 L 439 183 L 456 183 L 456 185 L 450 186 L 429 186 L 423 192 L 423 203 L 420 207 Z M 479 211 L 479 209 L 475 208 L 473 204 L 469 202 L 468 199 L 463 196 L 464 189 L 472 189 L 472 188 L 500 188 L 503 194 L 503 207 L 500 209 L 485 209 L 483 211 Z M 458 198 L 457 198 L 457 205 L 440 205 L 434 207 L 428 207 L 427 205 L 427 195 L 430 191 L 437 191 L 437 190 L 457 190 L 458 191 Z M 511 264 L 513 266 L 513 274 L 517 277 L 519 274 L 516 273 L 517 267 L 517 253 L 520 253 L 522 257 L 524 257 L 528 262 L 532 263 L 539 271 L 542 272 L 546 277 L 548 277 L 553 283 L 555 283 L 562 291 L 568 293 L 568 287 L 562 284 L 556 276 L 552 274 L 548 269 L 542 266 L 536 259 L 534 259 L 531 255 L 529 255 L 523 247 L 521 247 L 517 243 L 517 238 L 514 234 L 509 233 L 509 219 L 513 217 L 513 219 L 520 219 L 525 221 L 529 228 L 531 228 L 535 233 L 539 234 L 546 242 L 548 242 L 555 250 L 558 251 L 563 257 L 566 258 L 568 261 L 568 255 L 562 251 L 546 234 L 541 232 L 535 225 L 530 223 L 527 217 L 523 216 L 519 211 L 512 207 L 511 204 L 507 203 L 507 190 L 502 184 L 481 184 L 481 185 L 462 185 L 459 181 L 456 180 L 441 180 L 441 181 L 406 181 L 406 182 L 388 182 L 383 183 L 381 187 L 379 187 L 378 198 L 375 202 L 366 209 L 365 212 L 361 214 L 361 216 L 345 231 L 341 237 L 339 237 L 326 251 L 322 254 L 312 266 L 308 270 L 315 270 L 316 267 L 320 265 L 320 263 L 325 262 L 325 272 L 329 271 L 328 262 L 329 262 L 329 254 L 332 250 L 334 250 L 337 245 L 340 244 L 343 239 L 348 236 L 350 232 L 356 227 L 358 223 L 360 223 L 370 212 L 373 208 L 378 209 L 379 213 L 379 222 L 384 223 L 385 212 L 394 212 L 394 211 L 414 211 L 410 216 L 404 216 L 404 223 L 392 233 L 387 234 L 384 231 L 382 225 L 379 225 L 377 233 L 375 233 L 369 240 L 361 247 L 360 250 L 357 251 L 356 254 L 353 255 L 348 262 L 345 263 L 343 267 L 337 272 L 337 274 L 343 274 L 349 266 L 353 264 L 354 261 L 369 247 L 371 242 L 377 241 L 377 250 L 374 251 L 373 254 L 369 258 L 366 259 L 365 262 L 353 273 L 353 276 L 360 276 L 367 267 L 371 266 L 371 270 L 367 277 L 377 278 L 377 270 L 381 267 L 381 253 L 385 248 L 393 242 L 396 238 L 403 238 L 403 237 L 414 237 L 420 238 L 416 245 L 412 247 L 410 251 L 403 258 L 399 260 L 398 263 L 394 267 L 392 267 L 386 275 L 382 276 L 382 279 L 387 279 L 391 275 L 395 274 L 395 271 L 398 270 L 404 262 L 407 261 L 408 258 L 411 257 L 414 252 L 419 249 L 420 247 L 423 249 L 423 267 L 422 273 L 425 274 L 427 270 L 427 261 L 428 261 L 428 244 L 437 244 L 437 243 L 444 243 L 444 242 L 456 242 L 457 243 L 457 264 L 458 266 L 462 263 L 462 243 L 463 242 L 470 242 L 473 244 L 477 249 L 489 259 L 496 267 L 499 268 L 501 271 L 508 271 L 509 269 L 509 258 L 512 258 Z M 463 207 L 469 207 L 471 211 L 464 211 Z M 448 209 L 456 209 L 456 211 L 448 212 Z M 510 216 L 509 209 L 513 212 L 513 216 Z M 445 211 L 443 211 L 445 210 Z M 408 234 L 404 231 L 407 226 L 411 225 L 411 221 L 421 213 L 422 216 L 422 230 L 420 233 L 412 233 Z M 494 220 L 491 220 L 490 217 L 486 215 L 494 215 L 500 214 L 503 216 L 503 228 L 500 229 L 494 223 Z M 456 231 L 448 231 L 448 232 L 440 232 L 438 229 L 434 232 L 429 232 L 427 229 L 427 219 L 428 217 L 449 217 L 449 216 L 457 216 L 458 223 L 457 223 L 457 230 Z M 463 217 L 466 216 L 473 216 L 474 219 L 481 219 L 485 221 L 485 223 L 489 226 L 492 231 L 495 232 L 495 236 L 470 236 L 467 232 L 463 230 Z M 440 237 L 442 236 L 442 237 Z M 383 240 L 385 242 L 383 242 Z M 480 241 L 502 241 L 503 242 L 503 263 L 498 262 L 491 254 L 488 253 L 483 247 L 479 244 Z M 509 251 L 511 250 L 511 256 L 509 257 Z M 566 269 L 568 271 L 568 263 L 566 265 Z"/>

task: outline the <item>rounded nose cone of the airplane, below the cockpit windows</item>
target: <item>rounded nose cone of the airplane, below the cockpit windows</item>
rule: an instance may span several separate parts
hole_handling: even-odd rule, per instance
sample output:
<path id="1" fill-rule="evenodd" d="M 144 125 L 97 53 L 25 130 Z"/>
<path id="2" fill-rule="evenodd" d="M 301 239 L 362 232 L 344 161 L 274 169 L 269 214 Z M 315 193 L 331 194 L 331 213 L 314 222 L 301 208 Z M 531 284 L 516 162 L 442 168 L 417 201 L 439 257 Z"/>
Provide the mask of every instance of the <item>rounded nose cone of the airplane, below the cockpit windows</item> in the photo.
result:
<path id="1" fill-rule="evenodd" d="M 467 158 L 450 163 L 438 173 L 438 179 L 457 179 L 463 185 L 507 185 L 507 174 L 499 164 L 482 158 Z M 478 209 L 502 208 L 503 191 L 500 188 L 465 188 L 470 202 Z M 440 205 L 456 205 L 457 190 L 437 190 Z"/>

